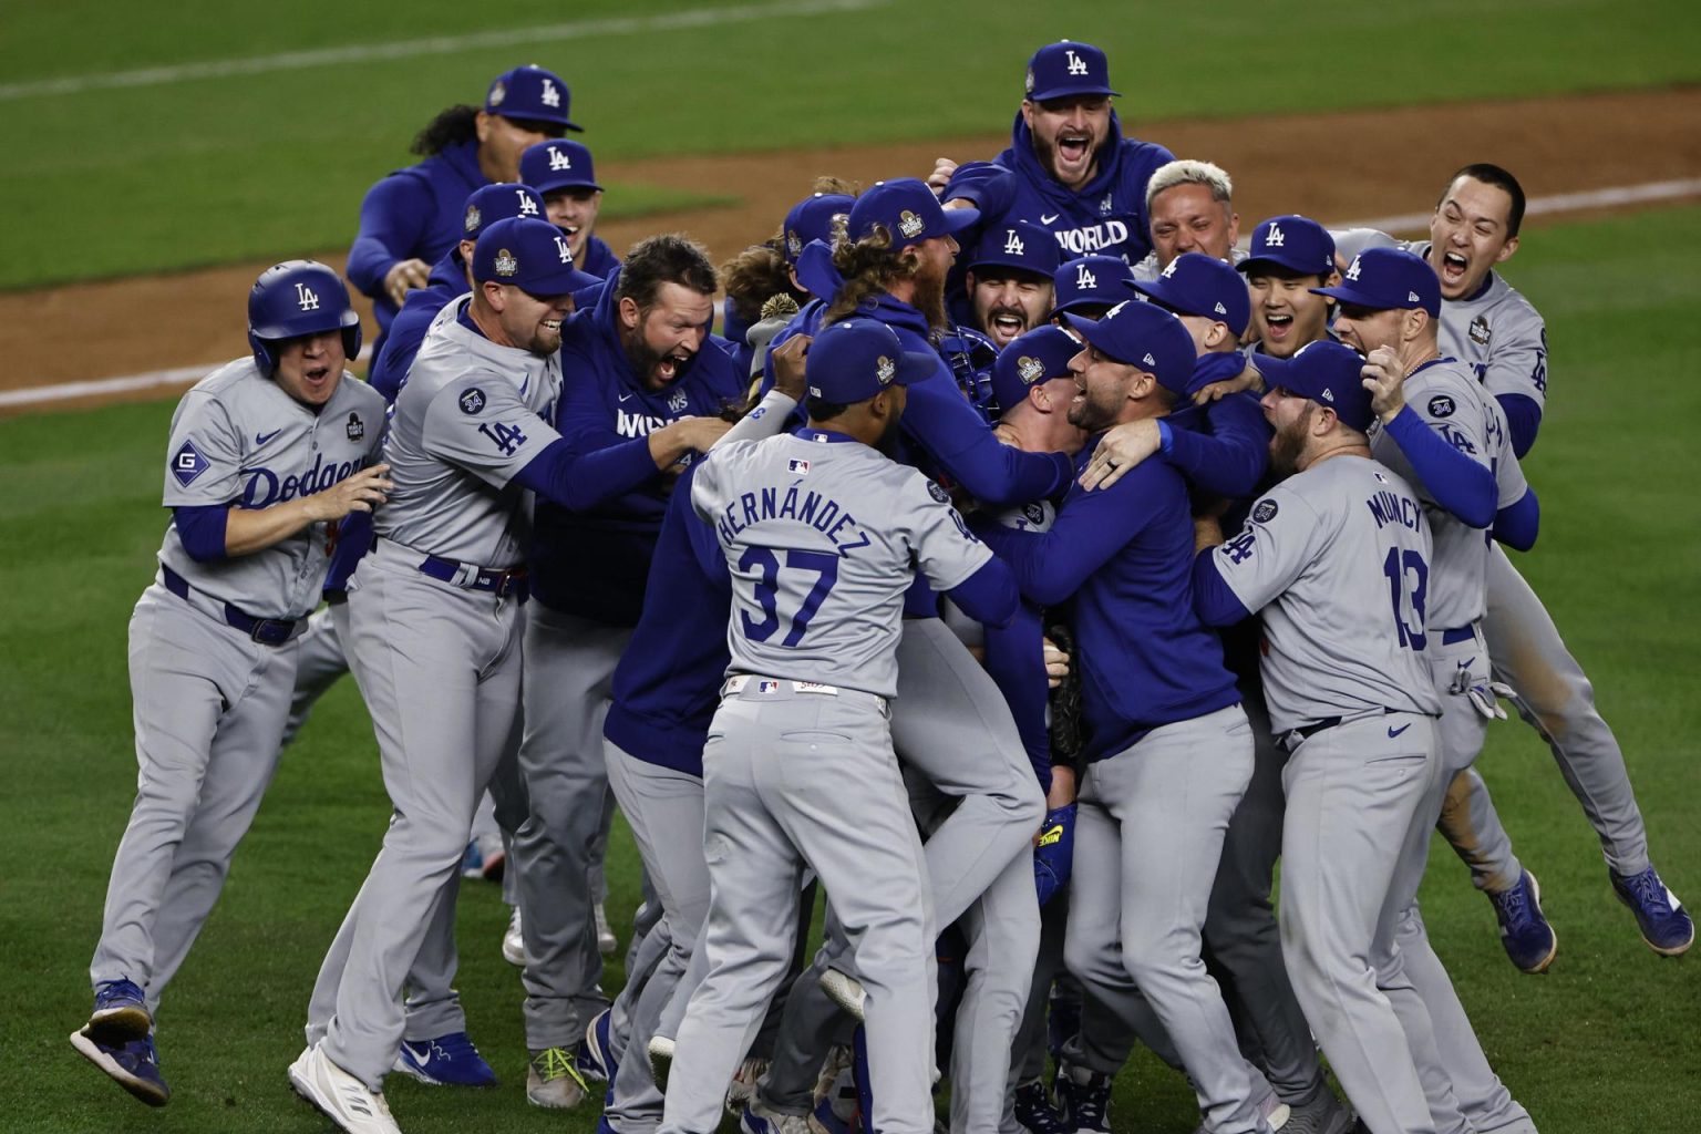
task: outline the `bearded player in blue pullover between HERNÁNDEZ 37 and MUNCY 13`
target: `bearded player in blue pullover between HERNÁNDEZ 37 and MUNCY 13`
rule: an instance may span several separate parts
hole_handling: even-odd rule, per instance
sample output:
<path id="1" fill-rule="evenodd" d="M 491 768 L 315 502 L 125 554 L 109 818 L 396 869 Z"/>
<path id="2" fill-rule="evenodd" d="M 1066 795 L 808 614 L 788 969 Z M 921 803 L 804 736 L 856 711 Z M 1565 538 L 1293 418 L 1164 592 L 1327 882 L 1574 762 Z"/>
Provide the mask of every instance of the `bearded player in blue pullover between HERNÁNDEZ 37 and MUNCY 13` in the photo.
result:
<path id="1" fill-rule="evenodd" d="M 1174 315 L 1124 303 L 1072 326 L 1085 347 L 1070 362 L 1080 388 L 1070 420 L 1089 434 L 1163 417 L 1182 396 L 1196 350 Z M 985 537 L 1027 598 L 1075 597 L 1090 740 L 1068 967 L 1106 1000 L 1138 984 L 1187 1069 L 1206 1131 L 1279 1129 L 1289 1108 L 1240 1057 L 1199 955 L 1223 833 L 1252 775 L 1252 733 L 1221 643 L 1191 612 L 1187 486 L 1167 464 L 1145 462 L 1111 491 L 1072 486 L 1044 536 Z"/>

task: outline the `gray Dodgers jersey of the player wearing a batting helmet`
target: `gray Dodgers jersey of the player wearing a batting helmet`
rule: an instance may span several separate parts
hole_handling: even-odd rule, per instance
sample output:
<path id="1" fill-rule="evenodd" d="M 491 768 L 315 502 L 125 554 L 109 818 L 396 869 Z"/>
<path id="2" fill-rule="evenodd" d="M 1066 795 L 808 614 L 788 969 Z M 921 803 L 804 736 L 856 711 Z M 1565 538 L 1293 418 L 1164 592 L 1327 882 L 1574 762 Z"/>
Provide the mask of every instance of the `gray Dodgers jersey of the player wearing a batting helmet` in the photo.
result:
<path id="1" fill-rule="evenodd" d="M 383 427 L 383 396 L 347 371 L 315 413 L 253 359 L 238 359 L 196 383 L 172 413 L 165 507 L 269 508 L 325 491 L 373 462 Z M 318 605 L 335 529 L 315 524 L 264 551 L 197 563 L 174 522 L 160 563 L 252 615 L 301 619 Z"/>

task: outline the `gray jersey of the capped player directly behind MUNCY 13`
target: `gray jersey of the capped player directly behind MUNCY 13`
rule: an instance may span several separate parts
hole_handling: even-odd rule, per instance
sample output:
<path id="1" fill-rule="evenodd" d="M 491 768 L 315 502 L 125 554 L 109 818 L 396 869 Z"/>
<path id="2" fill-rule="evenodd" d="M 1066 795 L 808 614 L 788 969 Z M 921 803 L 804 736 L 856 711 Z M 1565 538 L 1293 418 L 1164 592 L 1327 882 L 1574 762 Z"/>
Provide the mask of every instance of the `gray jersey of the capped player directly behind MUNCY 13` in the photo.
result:
<path id="1" fill-rule="evenodd" d="M 1405 403 L 1442 440 L 1495 474 L 1497 508 L 1516 503 L 1529 488 L 1512 454 L 1512 439 L 1500 406 L 1471 381 L 1465 364 L 1439 359 L 1420 366 L 1405 379 Z M 1470 626 L 1488 607 L 1483 583 L 1488 570 L 1488 532 L 1468 527 L 1436 503 L 1424 478 L 1380 422 L 1371 422 L 1369 435 L 1371 456 L 1417 488 L 1417 498 L 1429 517 L 1436 544 L 1429 571 L 1429 626 L 1436 629 Z"/>

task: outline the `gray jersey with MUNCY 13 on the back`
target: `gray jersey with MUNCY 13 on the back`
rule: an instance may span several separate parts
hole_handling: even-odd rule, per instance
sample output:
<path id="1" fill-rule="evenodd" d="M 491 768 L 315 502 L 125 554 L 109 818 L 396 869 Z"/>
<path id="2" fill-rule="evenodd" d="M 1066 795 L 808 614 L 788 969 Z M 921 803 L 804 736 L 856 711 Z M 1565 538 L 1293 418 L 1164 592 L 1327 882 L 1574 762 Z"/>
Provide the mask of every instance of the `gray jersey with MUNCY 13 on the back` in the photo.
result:
<path id="1" fill-rule="evenodd" d="M 1264 614 L 1260 668 L 1277 734 L 1376 709 L 1441 712 L 1419 653 L 1429 524 L 1398 474 L 1330 457 L 1276 485 L 1215 554 L 1240 604 Z"/>

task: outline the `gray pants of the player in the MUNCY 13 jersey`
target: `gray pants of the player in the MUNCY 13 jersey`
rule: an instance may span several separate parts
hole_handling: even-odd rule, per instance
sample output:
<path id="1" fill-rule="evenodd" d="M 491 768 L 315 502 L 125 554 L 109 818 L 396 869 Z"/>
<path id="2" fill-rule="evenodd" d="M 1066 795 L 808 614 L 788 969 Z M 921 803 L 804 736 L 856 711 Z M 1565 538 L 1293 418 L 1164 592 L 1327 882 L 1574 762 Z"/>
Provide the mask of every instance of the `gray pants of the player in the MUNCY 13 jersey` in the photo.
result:
<path id="1" fill-rule="evenodd" d="M 1415 712 L 1317 731 L 1283 770 L 1283 959 L 1335 1078 L 1374 1134 L 1437 1131 L 1407 1020 L 1385 991 L 1410 989 L 1395 945 L 1410 901 L 1395 893 L 1395 869 L 1407 843 L 1429 838 L 1420 811 L 1437 782 L 1436 726 Z"/>

